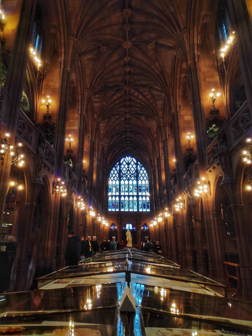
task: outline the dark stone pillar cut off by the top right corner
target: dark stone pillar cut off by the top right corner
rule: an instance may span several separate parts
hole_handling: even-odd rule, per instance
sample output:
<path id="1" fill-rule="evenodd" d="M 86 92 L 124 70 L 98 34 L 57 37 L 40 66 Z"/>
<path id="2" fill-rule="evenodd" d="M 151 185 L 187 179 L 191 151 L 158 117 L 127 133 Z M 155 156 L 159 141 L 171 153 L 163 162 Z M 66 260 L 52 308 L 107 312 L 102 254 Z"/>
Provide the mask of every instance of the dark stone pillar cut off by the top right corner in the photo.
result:
<path id="1" fill-rule="evenodd" d="M 235 31 L 239 63 L 243 74 L 245 91 L 248 99 L 250 114 L 252 116 L 252 28 L 251 18 L 248 12 L 246 0 L 227 1 L 230 17 L 232 20 L 232 29 Z"/>

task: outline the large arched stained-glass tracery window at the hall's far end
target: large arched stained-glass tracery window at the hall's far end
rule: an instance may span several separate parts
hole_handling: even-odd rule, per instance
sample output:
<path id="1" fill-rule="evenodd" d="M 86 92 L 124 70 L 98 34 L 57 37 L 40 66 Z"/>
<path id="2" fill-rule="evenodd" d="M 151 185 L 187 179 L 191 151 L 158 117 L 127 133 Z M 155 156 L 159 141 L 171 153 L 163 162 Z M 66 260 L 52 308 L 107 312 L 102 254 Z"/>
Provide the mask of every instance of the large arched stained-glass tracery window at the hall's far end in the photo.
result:
<path id="1" fill-rule="evenodd" d="M 109 175 L 109 211 L 150 211 L 149 177 L 131 156 L 118 161 Z"/>

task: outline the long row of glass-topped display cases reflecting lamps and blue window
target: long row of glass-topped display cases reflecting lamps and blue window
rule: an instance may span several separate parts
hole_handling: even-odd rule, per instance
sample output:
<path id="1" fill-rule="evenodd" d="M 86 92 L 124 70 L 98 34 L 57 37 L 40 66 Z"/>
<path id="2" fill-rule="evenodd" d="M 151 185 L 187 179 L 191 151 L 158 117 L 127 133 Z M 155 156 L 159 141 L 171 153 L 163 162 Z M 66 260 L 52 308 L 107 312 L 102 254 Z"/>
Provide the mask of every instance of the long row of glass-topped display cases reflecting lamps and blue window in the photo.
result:
<path id="1" fill-rule="evenodd" d="M 177 264 L 126 249 L 48 274 L 35 291 L 0 295 L 0 334 L 252 334 L 251 302 L 228 299 L 217 293 L 224 285 L 169 265 Z"/>

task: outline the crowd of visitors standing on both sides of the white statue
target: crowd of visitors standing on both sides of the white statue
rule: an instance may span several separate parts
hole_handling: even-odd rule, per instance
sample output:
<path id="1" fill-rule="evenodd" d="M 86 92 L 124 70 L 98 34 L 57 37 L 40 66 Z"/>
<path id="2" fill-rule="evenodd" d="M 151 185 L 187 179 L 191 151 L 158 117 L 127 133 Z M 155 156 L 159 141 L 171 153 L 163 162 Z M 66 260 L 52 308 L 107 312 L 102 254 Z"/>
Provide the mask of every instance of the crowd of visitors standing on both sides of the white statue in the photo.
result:
<path id="1" fill-rule="evenodd" d="M 70 231 L 68 237 L 69 241 L 65 252 L 67 266 L 77 265 L 80 260 L 95 256 L 99 252 L 99 249 L 102 253 L 105 251 L 116 251 L 126 247 L 124 241 L 119 243 L 119 241 L 116 241 L 116 237 L 112 237 L 111 241 L 109 239 L 107 240 L 107 238 L 103 238 L 100 245 L 95 236 L 93 236 L 92 239 L 90 236 L 87 238 L 82 236 L 80 239 L 79 236 L 75 235 L 74 231 Z M 152 242 L 151 240 L 145 239 L 144 242 L 141 242 L 141 250 L 162 254 L 161 245 L 158 240 Z"/>

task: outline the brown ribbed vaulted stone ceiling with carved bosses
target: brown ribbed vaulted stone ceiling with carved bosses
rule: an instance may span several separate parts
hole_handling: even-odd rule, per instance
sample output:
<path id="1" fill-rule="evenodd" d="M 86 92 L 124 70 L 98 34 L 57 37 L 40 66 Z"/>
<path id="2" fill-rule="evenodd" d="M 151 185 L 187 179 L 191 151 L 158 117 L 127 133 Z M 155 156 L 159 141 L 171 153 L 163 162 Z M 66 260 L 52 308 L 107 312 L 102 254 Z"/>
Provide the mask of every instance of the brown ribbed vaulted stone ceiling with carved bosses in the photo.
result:
<path id="1" fill-rule="evenodd" d="M 178 1 L 75 0 L 66 6 L 105 155 L 111 163 L 127 152 L 150 158 L 160 120 L 167 118 L 184 29 Z M 186 6 L 180 1 L 183 12 Z"/>

